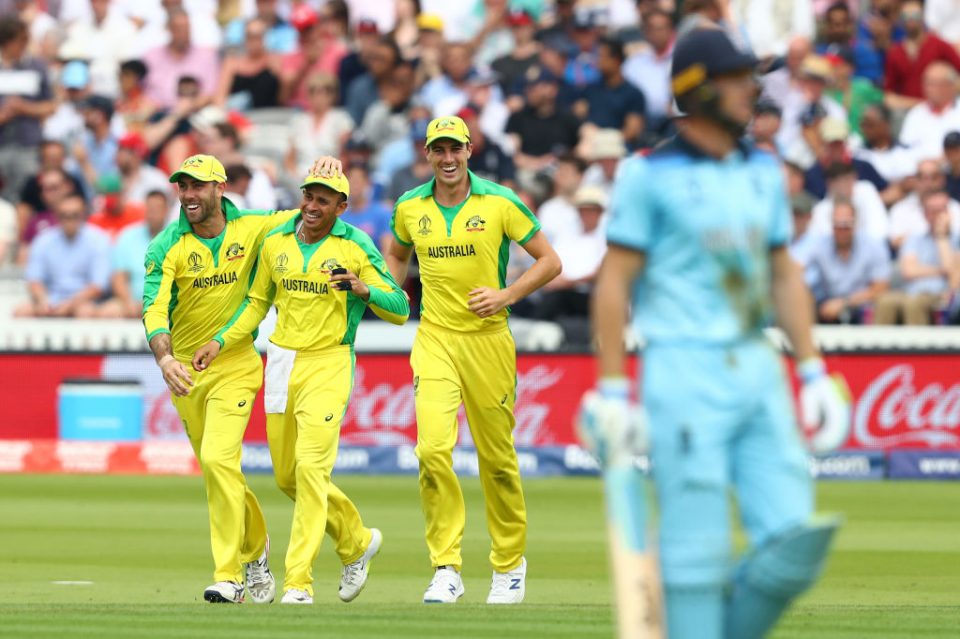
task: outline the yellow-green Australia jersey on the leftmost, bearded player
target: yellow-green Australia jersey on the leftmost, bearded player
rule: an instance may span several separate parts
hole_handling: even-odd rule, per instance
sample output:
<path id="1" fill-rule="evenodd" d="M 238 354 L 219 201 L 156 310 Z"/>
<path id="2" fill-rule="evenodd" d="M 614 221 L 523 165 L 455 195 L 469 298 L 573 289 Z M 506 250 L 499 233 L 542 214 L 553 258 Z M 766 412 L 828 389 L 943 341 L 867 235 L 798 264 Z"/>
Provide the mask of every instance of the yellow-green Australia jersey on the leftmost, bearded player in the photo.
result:
<path id="1" fill-rule="evenodd" d="M 143 325 L 147 341 L 170 333 L 173 354 L 189 361 L 233 317 L 247 295 L 263 238 L 299 209 L 252 211 L 222 200 L 227 226 L 215 238 L 194 234 L 186 215 L 150 242 L 143 286 Z M 256 326 L 231 348 L 253 342 Z"/>

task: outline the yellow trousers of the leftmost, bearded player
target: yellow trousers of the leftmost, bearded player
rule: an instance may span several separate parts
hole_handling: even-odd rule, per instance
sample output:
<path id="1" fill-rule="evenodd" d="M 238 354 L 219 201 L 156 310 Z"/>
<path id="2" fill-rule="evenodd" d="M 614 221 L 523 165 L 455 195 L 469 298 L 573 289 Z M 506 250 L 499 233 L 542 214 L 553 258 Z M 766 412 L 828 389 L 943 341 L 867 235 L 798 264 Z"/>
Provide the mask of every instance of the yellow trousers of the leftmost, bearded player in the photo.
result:
<path id="1" fill-rule="evenodd" d="M 186 397 L 172 395 L 190 445 L 203 470 L 210 513 L 214 581 L 243 583 L 243 564 L 267 543 L 267 524 L 240 472 L 243 433 L 263 383 L 263 361 L 251 346 L 226 353 L 197 372 Z"/>

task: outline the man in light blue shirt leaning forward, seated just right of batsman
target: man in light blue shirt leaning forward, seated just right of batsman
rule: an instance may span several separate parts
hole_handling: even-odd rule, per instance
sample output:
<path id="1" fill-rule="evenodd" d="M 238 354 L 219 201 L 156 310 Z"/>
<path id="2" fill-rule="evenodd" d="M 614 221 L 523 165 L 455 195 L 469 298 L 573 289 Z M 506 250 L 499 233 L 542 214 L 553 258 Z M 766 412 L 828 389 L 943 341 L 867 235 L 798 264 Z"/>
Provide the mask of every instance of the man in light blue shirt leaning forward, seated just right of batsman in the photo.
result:
<path id="1" fill-rule="evenodd" d="M 816 292 L 817 321 L 861 324 L 864 310 L 890 283 L 890 252 L 882 240 L 857 232 L 853 204 L 833 205 L 833 234 L 821 237 L 808 256 L 806 272 Z"/>

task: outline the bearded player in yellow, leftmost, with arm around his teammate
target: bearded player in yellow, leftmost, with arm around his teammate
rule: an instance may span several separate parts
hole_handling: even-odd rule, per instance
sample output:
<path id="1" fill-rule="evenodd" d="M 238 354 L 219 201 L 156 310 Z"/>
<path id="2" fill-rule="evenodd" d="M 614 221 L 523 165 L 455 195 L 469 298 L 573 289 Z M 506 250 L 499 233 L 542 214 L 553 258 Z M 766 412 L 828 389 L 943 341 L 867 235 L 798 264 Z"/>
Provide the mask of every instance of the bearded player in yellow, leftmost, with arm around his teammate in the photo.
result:
<path id="1" fill-rule="evenodd" d="M 325 158 L 314 170 L 337 172 L 340 163 Z M 192 374 L 187 366 L 245 299 L 263 238 L 298 211 L 240 210 L 223 197 L 226 180 L 210 155 L 187 158 L 170 176 L 180 192 L 180 219 L 147 248 L 143 324 L 203 470 L 215 581 L 204 599 L 240 603 L 246 584 L 254 602 L 270 603 L 276 588 L 266 523 L 240 471 L 243 433 L 263 379 L 253 335 L 224 349 L 214 367 Z"/>

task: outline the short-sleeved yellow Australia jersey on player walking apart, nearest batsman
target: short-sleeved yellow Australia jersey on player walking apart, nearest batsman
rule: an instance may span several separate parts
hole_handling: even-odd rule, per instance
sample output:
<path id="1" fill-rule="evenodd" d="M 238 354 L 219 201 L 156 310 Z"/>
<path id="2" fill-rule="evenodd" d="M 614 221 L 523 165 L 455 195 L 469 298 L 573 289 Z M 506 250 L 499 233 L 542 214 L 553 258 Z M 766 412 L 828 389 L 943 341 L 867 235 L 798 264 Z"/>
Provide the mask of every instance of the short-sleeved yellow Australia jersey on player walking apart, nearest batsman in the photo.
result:
<path id="1" fill-rule="evenodd" d="M 470 195 L 458 209 L 440 207 L 434 180 L 397 200 L 390 227 L 397 241 L 414 246 L 423 283 L 421 317 L 456 331 L 502 325 L 508 309 L 490 317 L 470 311 L 469 292 L 506 287 L 510 241 L 525 244 L 540 223 L 516 193 L 470 175 Z"/>

